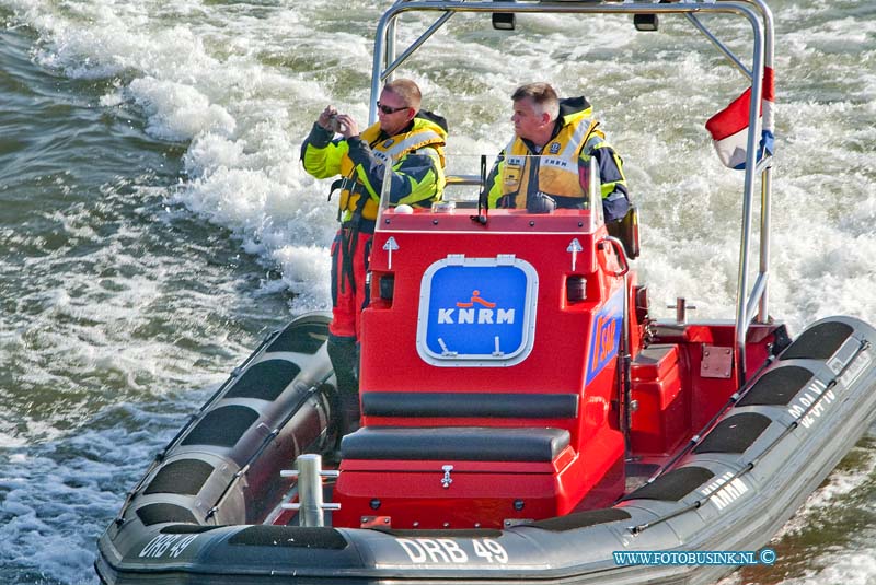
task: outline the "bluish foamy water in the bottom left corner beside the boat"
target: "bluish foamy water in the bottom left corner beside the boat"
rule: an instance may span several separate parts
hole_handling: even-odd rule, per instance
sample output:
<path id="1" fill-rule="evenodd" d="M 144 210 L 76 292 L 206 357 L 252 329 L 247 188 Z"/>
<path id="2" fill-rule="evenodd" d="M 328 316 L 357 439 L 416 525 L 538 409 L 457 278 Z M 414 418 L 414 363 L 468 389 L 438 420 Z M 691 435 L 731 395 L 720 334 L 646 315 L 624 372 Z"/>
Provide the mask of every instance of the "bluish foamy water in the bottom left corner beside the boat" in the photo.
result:
<path id="1" fill-rule="evenodd" d="M 164 402 L 150 411 L 119 405 L 74 435 L 26 452 L 4 449 L 0 577 L 5 583 L 96 583 L 94 537 L 106 527 L 107 511 L 122 505 L 119 485 L 142 475 L 187 410 L 187 403 Z"/>

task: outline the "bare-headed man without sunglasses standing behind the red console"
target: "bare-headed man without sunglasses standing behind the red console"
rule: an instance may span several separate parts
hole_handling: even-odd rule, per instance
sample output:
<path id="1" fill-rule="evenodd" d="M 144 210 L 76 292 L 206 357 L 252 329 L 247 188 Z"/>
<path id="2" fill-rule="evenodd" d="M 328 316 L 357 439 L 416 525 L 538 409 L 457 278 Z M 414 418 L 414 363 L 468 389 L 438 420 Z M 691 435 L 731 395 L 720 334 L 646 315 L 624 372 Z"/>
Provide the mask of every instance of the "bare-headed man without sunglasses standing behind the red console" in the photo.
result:
<path id="1" fill-rule="evenodd" d="M 587 100 L 561 101 L 548 83 L 530 83 L 511 101 L 515 137 L 487 178 L 489 207 L 584 209 L 596 157 L 606 222 L 622 220 L 630 209 L 623 162 L 597 129 Z"/>

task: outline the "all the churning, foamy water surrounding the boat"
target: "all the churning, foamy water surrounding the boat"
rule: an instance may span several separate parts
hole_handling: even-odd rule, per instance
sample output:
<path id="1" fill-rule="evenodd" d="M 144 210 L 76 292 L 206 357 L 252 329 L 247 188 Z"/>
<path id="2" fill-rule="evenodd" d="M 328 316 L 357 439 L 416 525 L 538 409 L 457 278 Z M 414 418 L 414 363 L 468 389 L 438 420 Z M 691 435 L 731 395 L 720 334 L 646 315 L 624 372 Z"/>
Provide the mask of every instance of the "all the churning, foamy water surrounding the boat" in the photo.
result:
<path id="1" fill-rule="evenodd" d="M 0 582 L 95 584 L 96 537 L 185 416 L 268 330 L 325 306 L 334 217 L 297 151 L 326 100 L 364 116 L 377 4 L 0 0 Z M 774 313 L 795 330 L 873 321 L 876 9 L 772 4 Z M 457 148 L 504 144 L 507 94 L 539 59 L 567 85 L 592 80 L 645 211 L 655 302 L 726 308 L 738 182 L 667 96 L 721 104 L 738 83 L 671 25 L 624 44 L 610 21 L 609 47 L 577 54 L 569 24 L 529 26 L 535 40 L 507 42 L 519 60 L 465 25 L 439 39 L 441 62 L 415 63 Z M 643 46 L 652 58 L 620 63 Z M 873 429 L 772 546 L 775 566 L 727 583 L 876 583 Z"/>

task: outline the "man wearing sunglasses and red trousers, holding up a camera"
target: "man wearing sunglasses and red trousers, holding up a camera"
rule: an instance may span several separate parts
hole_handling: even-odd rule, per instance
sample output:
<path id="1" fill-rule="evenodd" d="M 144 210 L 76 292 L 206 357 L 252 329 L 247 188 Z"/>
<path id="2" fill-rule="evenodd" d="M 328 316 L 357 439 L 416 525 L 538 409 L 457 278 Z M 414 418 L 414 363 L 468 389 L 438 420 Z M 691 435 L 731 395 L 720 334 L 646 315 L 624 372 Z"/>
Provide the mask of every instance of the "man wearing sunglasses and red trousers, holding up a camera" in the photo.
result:
<path id="1" fill-rule="evenodd" d="M 341 229 L 332 245 L 332 324 L 328 355 L 341 396 L 343 433 L 359 420 L 358 341 L 360 314 L 369 303 L 365 283 L 385 164 L 392 166 L 389 204 L 429 207 L 445 186 L 447 124 L 420 110 L 422 95 L 407 79 L 383 86 L 378 122 L 359 132 L 356 120 L 327 106 L 301 147 L 304 171 L 316 178 L 339 175 Z M 339 134 L 339 136 L 336 136 Z M 331 195 L 330 195 L 331 198 Z"/>

